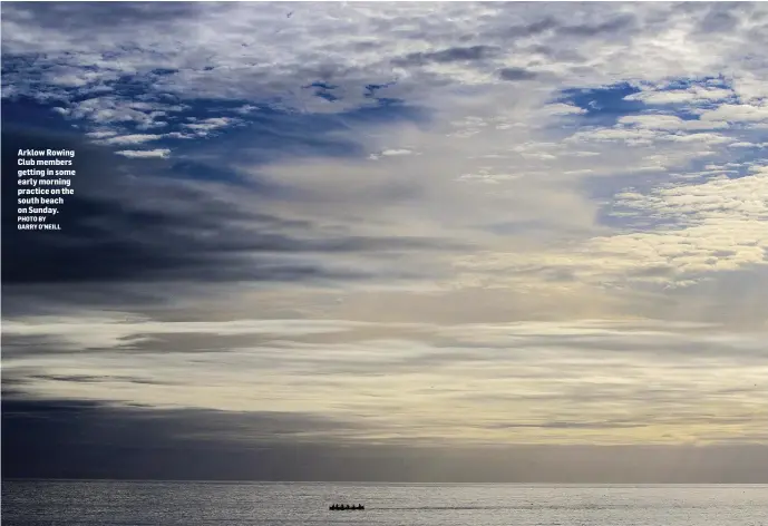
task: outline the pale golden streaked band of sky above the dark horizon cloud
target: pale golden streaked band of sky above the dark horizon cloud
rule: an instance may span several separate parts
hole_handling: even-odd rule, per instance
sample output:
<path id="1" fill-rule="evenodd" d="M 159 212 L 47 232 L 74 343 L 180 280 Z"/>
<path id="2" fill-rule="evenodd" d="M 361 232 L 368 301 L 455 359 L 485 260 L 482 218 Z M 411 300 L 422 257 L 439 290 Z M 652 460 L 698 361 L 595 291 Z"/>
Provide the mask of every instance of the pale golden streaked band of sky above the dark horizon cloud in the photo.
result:
<path id="1" fill-rule="evenodd" d="M 17 370 L 39 371 L 39 396 L 312 413 L 360 426 L 344 439 L 708 444 L 761 441 L 768 429 L 765 333 L 706 325 L 117 318 L 7 322 L 4 331 L 82 349 L 77 361 L 14 358 Z M 165 340 L 192 334 L 193 351 Z M 257 337 L 268 341 L 249 347 Z"/>

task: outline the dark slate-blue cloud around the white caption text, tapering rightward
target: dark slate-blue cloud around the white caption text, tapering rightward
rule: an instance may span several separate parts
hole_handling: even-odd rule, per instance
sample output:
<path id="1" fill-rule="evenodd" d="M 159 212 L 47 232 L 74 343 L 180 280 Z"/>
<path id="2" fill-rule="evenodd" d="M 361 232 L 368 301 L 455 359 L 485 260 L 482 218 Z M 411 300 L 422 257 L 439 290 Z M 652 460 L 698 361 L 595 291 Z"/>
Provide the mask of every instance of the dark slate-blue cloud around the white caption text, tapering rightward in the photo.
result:
<path id="1" fill-rule="evenodd" d="M 8 140 L 3 165 L 14 165 L 16 146 L 29 140 L 29 135 Z M 19 243 L 23 240 L 14 257 L 3 265 L 3 281 L 9 284 L 354 281 L 376 275 L 398 280 L 416 273 L 387 269 L 379 254 L 425 250 L 438 253 L 461 245 L 458 240 L 431 238 L 430 234 L 347 234 L 315 223 L 322 218 L 310 215 L 312 203 L 324 207 L 323 195 L 333 191 L 328 186 L 330 181 L 302 186 L 300 181 L 270 181 L 265 174 L 251 181 L 243 174 L 236 185 L 215 178 L 195 181 L 174 177 L 194 172 L 197 166 L 168 165 L 165 150 L 116 152 L 119 156 L 139 157 L 120 164 L 108 150 L 70 143 L 62 136 L 33 140 L 41 147 L 70 144 L 78 152 L 77 193 L 68 199 L 60 220 L 62 228 L 68 228 L 68 240 L 23 237 L 13 223 L 3 224 L 7 238 Z M 161 164 L 147 168 L 132 164 L 148 160 Z M 113 168 L 105 171 L 104 166 Z M 216 168 L 204 164 L 200 169 L 208 175 Z M 134 175 L 137 171 L 143 172 L 140 177 Z M 404 191 L 408 188 L 383 185 L 380 198 L 399 199 Z M 360 192 L 369 191 L 362 187 Z M 11 192 L 4 195 L 13 198 Z M 275 199 L 276 195 L 281 197 Z M 295 204 L 289 206 L 293 195 Z M 254 203 L 261 203 L 259 212 Z M 89 246 L 87 262 L 76 263 L 80 252 L 72 240 Z M 41 259 L 43 253 L 52 255 Z"/>

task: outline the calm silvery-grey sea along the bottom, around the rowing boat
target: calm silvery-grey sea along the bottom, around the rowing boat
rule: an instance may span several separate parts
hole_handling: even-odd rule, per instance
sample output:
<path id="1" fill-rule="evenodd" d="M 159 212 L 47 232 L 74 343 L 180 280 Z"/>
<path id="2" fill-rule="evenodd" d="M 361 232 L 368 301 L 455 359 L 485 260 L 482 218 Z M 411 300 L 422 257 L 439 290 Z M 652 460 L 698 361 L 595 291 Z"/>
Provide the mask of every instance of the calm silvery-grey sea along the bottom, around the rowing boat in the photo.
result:
<path id="1" fill-rule="evenodd" d="M 46 480 L 1 504 L 3 526 L 768 526 L 768 485 Z"/>

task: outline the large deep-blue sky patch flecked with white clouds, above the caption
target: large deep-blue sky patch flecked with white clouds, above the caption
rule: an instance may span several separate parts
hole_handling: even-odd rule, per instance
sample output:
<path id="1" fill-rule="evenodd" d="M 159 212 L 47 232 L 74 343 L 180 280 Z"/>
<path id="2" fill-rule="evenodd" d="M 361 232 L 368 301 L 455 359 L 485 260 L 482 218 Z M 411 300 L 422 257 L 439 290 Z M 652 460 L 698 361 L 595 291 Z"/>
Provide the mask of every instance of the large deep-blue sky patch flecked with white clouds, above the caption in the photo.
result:
<path id="1" fill-rule="evenodd" d="M 29 71 L 30 60 L 3 61 L 3 78 L 7 72 Z M 100 148 L 115 153 L 167 149 L 171 152 L 167 158 L 120 157 L 119 160 L 161 163 L 164 169 L 158 174 L 165 177 L 247 185 L 273 196 L 285 196 L 291 191 L 260 181 L 259 166 L 288 158 L 367 157 L 369 152 L 359 143 L 359 130 L 364 133 L 380 124 L 426 119 L 424 110 L 404 100 L 376 97 L 387 85 L 360 86 L 367 101 L 359 107 L 312 114 L 291 107 L 288 99 L 281 104 L 279 97 L 269 100 L 187 99 L 157 89 L 155 82 L 176 72 L 175 69 L 154 69 L 77 86 L 52 86 L 46 85 L 45 71 L 40 71 L 31 80 L 39 84 L 40 89 L 32 91 L 48 96 L 3 98 L 3 117 L 6 123 L 25 123 L 26 127 L 48 132 L 56 129 L 75 135 L 97 132 L 100 135 L 91 135 L 89 139 L 100 142 Z M 26 82 L 30 82 L 29 76 Z M 30 86 L 26 88 L 23 91 L 29 92 Z M 329 82 L 315 81 L 305 88 L 327 100 L 338 99 L 329 95 L 337 90 L 337 86 Z M 95 94 L 95 90 L 100 92 Z M 97 98 L 100 100 L 94 100 Z M 126 140 L 120 142 L 121 137 Z M 226 162 L 221 163 L 222 158 Z M 244 175 L 233 168 L 235 165 L 249 165 L 253 169 Z"/>

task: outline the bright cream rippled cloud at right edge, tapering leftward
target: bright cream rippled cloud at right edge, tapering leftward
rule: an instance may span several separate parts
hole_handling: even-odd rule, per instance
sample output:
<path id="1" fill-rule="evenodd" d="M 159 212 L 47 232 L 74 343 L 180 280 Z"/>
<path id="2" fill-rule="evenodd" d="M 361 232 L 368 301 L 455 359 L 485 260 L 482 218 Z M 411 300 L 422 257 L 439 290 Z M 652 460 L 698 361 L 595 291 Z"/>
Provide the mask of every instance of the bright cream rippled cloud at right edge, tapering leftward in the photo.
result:
<path id="1" fill-rule="evenodd" d="M 766 192 L 764 172 L 758 168 L 738 178 L 717 177 L 699 184 L 668 186 L 648 195 L 619 194 L 614 206 L 622 210 L 623 217 L 647 217 L 668 222 L 669 226 L 593 237 L 580 249 L 546 257 L 486 254 L 469 267 L 480 265 L 486 271 L 505 270 L 515 275 L 528 265 L 562 265 L 571 269 L 579 282 L 594 276 L 601 283 L 629 279 L 673 284 L 721 271 L 766 265 L 768 231 L 764 222 L 768 210 L 762 199 L 755 197 Z M 600 259 L 599 266 L 593 266 L 595 257 Z M 663 272 L 648 273 L 651 269 Z"/>

